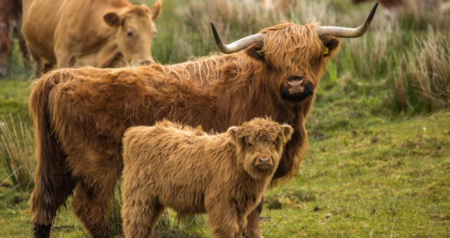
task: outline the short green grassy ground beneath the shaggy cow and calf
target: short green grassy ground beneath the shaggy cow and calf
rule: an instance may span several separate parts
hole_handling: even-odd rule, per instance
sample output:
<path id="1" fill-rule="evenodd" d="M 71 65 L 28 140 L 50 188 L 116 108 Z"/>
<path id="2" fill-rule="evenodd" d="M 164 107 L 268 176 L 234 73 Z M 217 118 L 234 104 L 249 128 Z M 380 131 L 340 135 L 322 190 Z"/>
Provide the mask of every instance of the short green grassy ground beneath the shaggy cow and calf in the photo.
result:
<path id="1" fill-rule="evenodd" d="M 450 111 L 388 119 L 356 104 L 316 103 L 299 175 L 266 193 L 265 237 L 449 237 Z M 29 197 L 0 187 L 0 237 L 29 237 Z M 70 211 L 55 226 L 53 237 L 85 236 Z"/>

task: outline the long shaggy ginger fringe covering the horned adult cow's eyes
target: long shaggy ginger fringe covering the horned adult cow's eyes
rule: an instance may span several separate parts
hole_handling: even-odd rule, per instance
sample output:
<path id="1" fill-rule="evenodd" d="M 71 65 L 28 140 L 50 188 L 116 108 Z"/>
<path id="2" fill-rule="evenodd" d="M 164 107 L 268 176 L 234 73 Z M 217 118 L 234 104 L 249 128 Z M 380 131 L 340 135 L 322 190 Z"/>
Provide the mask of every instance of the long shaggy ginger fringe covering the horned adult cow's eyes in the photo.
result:
<path id="1" fill-rule="evenodd" d="M 281 22 L 274 27 L 262 29 L 265 33 L 264 57 L 266 62 L 280 69 L 286 75 L 293 75 L 301 70 L 307 71 L 309 60 L 321 58 L 322 41 L 314 32 L 319 27 L 316 22 L 309 25 L 297 25 L 290 22 Z"/>

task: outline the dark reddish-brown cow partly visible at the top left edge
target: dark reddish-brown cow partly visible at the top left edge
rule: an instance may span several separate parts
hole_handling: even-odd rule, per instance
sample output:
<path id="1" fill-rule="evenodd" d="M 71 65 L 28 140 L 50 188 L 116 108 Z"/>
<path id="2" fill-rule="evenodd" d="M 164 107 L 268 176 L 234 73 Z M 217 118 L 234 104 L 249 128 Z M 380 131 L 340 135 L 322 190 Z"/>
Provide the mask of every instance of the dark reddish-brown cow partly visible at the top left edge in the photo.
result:
<path id="1" fill-rule="evenodd" d="M 22 0 L 0 0 L 0 76 L 6 74 L 6 62 L 13 38 L 19 41 L 24 61 L 27 62 L 30 58 L 20 28 L 22 28 Z"/>

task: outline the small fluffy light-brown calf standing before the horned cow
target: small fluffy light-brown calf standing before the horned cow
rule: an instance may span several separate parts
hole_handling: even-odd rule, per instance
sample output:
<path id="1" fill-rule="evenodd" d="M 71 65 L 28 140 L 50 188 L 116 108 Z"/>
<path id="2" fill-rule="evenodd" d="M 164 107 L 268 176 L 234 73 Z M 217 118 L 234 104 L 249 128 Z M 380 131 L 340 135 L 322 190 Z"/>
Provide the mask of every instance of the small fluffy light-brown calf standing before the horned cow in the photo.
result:
<path id="1" fill-rule="evenodd" d="M 242 237 L 292 133 L 262 118 L 219 135 L 169 121 L 129 128 L 122 143 L 125 237 L 152 237 L 166 207 L 178 216 L 206 212 L 214 237 Z"/>

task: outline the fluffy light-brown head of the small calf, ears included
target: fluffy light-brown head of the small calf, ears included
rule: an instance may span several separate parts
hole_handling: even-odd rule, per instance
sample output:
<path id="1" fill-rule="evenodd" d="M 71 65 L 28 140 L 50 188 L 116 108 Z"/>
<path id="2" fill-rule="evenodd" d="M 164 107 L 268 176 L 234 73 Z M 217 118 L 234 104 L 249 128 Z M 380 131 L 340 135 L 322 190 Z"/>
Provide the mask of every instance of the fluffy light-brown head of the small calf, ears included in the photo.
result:
<path id="1" fill-rule="evenodd" d="M 283 145 L 290 140 L 293 128 L 267 119 L 253 119 L 233 126 L 229 136 L 237 145 L 238 163 L 252 178 L 270 178 L 278 167 Z"/>

